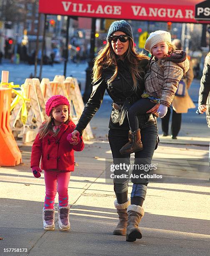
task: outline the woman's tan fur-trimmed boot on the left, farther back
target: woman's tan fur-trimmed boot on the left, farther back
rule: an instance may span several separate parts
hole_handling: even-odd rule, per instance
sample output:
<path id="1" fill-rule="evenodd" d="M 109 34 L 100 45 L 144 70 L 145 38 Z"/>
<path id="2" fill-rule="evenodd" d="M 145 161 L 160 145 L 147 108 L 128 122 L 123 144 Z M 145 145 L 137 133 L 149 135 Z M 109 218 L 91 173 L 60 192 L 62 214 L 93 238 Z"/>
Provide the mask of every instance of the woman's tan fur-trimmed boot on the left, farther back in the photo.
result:
<path id="1" fill-rule="evenodd" d="M 128 198 L 128 201 L 124 202 L 123 204 L 118 204 L 117 200 L 115 200 L 115 208 L 117 209 L 117 213 L 119 215 L 119 223 L 117 224 L 117 227 L 113 231 L 113 235 L 125 236 L 127 221 L 128 221 L 127 208 L 129 205 L 130 205 L 130 198 Z"/>

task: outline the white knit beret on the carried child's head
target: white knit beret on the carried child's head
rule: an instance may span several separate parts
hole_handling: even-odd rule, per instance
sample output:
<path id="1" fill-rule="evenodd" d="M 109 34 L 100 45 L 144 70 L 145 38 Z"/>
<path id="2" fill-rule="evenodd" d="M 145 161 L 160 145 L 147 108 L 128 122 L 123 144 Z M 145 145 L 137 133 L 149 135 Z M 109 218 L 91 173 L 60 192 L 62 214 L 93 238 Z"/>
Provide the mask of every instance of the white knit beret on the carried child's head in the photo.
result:
<path id="1" fill-rule="evenodd" d="M 145 50 L 152 54 L 153 46 L 164 41 L 171 43 L 171 35 L 169 32 L 164 30 L 157 30 L 152 32 L 145 42 Z"/>

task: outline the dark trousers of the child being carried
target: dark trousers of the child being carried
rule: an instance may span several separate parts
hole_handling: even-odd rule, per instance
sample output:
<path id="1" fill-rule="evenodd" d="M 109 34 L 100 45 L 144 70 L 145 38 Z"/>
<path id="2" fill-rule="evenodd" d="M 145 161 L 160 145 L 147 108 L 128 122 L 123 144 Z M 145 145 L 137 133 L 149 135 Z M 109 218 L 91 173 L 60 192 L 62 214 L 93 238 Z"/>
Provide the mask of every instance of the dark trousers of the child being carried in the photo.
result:
<path id="1" fill-rule="evenodd" d="M 146 114 L 148 110 L 153 108 L 155 103 L 151 102 L 150 99 L 140 99 L 136 101 L 128 110 L 128 121 L 130 125 L 130 131 L 135 131 L 139 128 L 139 121 L 137 115 Z"/>

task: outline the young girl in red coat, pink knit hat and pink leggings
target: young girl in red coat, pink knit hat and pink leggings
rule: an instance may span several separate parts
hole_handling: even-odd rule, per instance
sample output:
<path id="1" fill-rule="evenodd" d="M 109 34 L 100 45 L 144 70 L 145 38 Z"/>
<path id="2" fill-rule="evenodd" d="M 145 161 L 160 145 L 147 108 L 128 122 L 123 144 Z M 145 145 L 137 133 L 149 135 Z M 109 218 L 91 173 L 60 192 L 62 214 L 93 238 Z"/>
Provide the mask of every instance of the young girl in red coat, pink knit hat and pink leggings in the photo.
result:
<path id="1" fill-rule="evenodd" d="M 67 231 L 70 229 L 68 184 L 70 172 L 74 171 L 74 150 L 82 151 L 84 143 L 81 136 L 72 139 L 75 124 L 70 119 L 70 104 L 66 97 L 52 96 L 47 100 L 45 108 L 49 120 L 41 125 L 33 143 L 31 168 L 36 178 L 41 176 L 41 169 L 45 171 L 46 195 L 42 214 L 44 230 L 55 229 L 54 201 L 58 192 L 58 224 L 60 230 Z"/>

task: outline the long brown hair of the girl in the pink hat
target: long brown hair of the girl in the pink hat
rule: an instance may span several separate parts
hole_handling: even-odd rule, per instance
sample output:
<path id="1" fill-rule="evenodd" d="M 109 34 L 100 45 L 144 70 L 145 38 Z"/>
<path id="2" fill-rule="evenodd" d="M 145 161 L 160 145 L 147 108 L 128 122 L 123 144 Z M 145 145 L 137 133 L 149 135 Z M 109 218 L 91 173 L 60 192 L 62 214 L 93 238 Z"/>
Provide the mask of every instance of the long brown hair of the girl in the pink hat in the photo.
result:
<path id="1" fill-rule="evenodd" d="M 55 109 L 55 108 L 52 108 L 48 120 L 46 120 L 44 123 L 42 123 L 42 125 L 41 125 L 40 128 L 39 128 L 38 133 L 39 133 L 39 138 L 40 138 L 40 139 L 41 139 L 41 138 L 44 138 L 44 137 L 47 135 L 47 133 L 48 133 L 49 131 L 53 131 L 53 130 L 52 130 L 52 127 L 53 127 L 53 125 L 54 125 L 54 122 L 53 122 L 54 118 L 52 117 L 52 111 L 53 111 L 54 109 Z M 69 122 L 69 120 L 71 120 L 71 118 L 70 118 L 70 113 L 68 113 L 68 114 L 69 114 L 69 115 L 68 115 L 68 119 L 65 121 L 65 124 L 67 124 L 67 123 Z M 59 131 L 60 131 L 60 129 L 57 129 L 57 131 L 56 131 L 55 133 L 53 132 L 52 137 L 57 136 L 57 133 L 59 133 Z"/>

